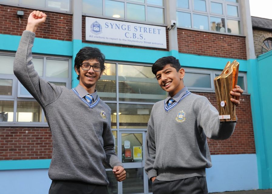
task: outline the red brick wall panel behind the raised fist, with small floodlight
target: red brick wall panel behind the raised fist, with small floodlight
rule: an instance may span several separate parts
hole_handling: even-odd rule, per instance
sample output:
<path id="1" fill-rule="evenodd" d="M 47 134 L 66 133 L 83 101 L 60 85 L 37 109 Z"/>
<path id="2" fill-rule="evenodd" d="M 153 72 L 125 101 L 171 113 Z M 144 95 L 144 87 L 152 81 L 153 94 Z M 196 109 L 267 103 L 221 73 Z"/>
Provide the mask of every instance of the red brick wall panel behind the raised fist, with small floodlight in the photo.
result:
<path id="1" fill-rule="evenodd" d="M 21 24 L 17 10 L 24 11 Z M 0 34 L 22 35 L 27 24 L 27 18 L 32 9 L 0 5 Z M 36 37 L 72 41 L 72 15 L 45 12 L 46 22 L 36 31 Z"/>

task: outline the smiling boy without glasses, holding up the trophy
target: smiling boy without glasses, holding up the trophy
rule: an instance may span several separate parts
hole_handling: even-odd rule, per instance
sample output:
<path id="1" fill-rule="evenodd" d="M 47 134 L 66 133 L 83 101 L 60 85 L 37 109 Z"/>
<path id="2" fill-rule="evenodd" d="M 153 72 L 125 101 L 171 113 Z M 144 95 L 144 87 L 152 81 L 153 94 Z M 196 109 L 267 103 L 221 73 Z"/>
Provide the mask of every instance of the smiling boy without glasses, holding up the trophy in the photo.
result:
<path id="1" fill-rule="evenodd" d="M 212 166 L 206 137 L 229 138 L 235 123 L 220 123 L 209 100 L 188 91 L 179 60 L 168 56 L 152 66 L 158 84 L 168 92 L 152 108 L 146 135 L 145 171 L 153 194 L 208 194 L 205 169 Z M 230 92 L 238 106 L 243 90 Z"/>

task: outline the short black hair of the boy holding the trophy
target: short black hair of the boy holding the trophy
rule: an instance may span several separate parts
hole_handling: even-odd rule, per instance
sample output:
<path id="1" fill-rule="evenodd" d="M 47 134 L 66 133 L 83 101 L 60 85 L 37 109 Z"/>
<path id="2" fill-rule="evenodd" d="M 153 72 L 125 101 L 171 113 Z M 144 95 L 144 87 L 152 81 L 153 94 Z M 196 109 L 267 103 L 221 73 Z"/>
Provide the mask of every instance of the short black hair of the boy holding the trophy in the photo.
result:
<path id="1" fill-rule="evenodd" d="M 165 65 L 170 65 L 171 67 L 175 68 L 178 72 L 178 70 L 181 68 L 179 60 L 176 59 L 173 56 L 168 56 L 168 57 L 162 57 L 158 59 L 153 65 L 152 65 L 152 73 L 155 75 L 157 74 L 158 71 L 161 71 Z"/>

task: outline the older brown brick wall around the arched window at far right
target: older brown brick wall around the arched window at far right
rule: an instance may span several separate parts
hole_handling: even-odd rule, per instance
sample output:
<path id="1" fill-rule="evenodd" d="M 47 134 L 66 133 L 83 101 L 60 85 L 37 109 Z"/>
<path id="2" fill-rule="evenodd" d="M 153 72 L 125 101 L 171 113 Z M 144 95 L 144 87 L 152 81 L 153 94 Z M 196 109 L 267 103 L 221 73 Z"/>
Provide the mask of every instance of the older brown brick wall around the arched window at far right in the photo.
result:
<path id="1" fill-rule="evenodd" d="M 272 38 L 272 31 L 254 29 L 253 28 L 253 40 L 254 40 L 254 49 L 255 55 L 259 56 L 262 54 L 262 44 L 265 39 Z"/>

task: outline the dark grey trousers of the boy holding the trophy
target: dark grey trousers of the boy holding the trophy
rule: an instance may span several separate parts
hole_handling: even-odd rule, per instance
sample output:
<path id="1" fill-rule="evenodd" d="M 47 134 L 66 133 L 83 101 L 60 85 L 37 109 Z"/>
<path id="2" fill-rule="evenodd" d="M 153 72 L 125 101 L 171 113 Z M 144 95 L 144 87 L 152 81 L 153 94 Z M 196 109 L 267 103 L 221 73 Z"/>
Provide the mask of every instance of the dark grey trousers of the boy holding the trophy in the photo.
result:
<path id="1" fill-rule="evenodd" d="M 206 177 L 194 176 L 176 181 L 159 181 L 152 183 L 153 194 L 208 194 Z"/>

